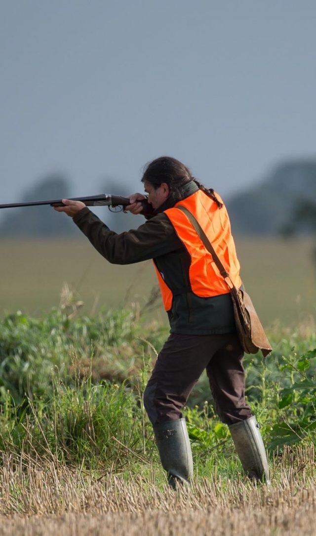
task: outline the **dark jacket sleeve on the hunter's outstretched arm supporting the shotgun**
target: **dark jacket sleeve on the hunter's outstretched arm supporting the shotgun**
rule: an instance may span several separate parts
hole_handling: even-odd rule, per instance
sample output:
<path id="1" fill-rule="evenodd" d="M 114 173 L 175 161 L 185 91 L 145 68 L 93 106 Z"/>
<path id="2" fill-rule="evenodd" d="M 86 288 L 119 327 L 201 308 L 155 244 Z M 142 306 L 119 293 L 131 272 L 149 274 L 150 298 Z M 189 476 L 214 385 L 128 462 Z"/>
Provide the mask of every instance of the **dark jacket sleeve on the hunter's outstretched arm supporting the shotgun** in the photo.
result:
<path id="1" fill-rule="evenodd" d="M 93 247 L 112 264 L 133 264 L 183 249 L 165 214 L 157 214 L 138 227 L 117 234 L 87 207 L 73 217 Z"/>

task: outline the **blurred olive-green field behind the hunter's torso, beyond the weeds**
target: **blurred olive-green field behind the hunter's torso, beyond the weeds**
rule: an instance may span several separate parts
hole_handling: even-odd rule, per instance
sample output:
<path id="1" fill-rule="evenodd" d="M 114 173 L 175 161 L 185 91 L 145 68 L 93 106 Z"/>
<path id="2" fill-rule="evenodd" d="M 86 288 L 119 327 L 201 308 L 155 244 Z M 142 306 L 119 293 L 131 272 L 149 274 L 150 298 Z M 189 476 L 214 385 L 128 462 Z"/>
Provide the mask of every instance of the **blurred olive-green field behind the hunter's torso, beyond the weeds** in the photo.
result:
<path id="1" fill-rule="evenodd" d="M 236 240 L 247 291 L 265 325 L 295 324 L 315 313 L 313 241 Z M 1 315 L 39 315 L 58 306 L 64 282 L 78 293 L 86 314 L 136 302 L 144 306 L 156 285 L 151 261 L 110 265 L 85 239 L 1 241 Z M 161 302 L 155 314 L 165 318 Z"/>

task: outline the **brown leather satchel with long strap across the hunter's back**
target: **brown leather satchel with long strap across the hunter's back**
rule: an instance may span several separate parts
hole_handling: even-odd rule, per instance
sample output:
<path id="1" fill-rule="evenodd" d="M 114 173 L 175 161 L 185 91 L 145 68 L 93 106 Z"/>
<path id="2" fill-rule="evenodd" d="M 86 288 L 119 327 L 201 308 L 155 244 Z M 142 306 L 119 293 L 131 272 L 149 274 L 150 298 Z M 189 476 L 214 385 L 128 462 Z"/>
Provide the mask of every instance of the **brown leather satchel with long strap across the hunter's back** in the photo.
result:
<path id="1" fill-rule="evenodd" d="M 184 206 L 178 205 L 176 208 L 184 212 L 187 218 L 191 221 L 191 224 L 198 233 L 205 248 L 212 255 L 214 263 L 229 288 L 232 304 L 234 306 L 236 329 L 244 351 L 247 354 L 257 354 L 257 352 L 261 350 L 264 357 L 266 357 L 272 352 L 272 347 L 268 341 L 265 330 L 261 325 L 257 312 L 255 312 L 249 294 L 245 292 L 243 285 L 240 288 L 237 288 L 234 285 L 229 273 L 225 270 L 219 257 L 217 257 L 213 245 L 208 240 L 195 216 Z"/>

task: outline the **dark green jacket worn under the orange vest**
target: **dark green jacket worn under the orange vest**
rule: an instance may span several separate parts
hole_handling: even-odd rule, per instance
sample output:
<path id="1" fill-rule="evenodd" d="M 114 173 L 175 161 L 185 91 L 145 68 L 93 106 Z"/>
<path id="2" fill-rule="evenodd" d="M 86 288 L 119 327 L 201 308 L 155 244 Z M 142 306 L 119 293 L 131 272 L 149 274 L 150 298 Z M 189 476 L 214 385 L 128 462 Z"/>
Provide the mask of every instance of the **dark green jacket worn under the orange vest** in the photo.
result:
<path id="1" fill-rule="evenodd" d="M 185 186 L 182 198 L 189 197 L 197 190 L 197 185 L 190 182 Z M 236 327 L 230 294 L 203 298 L 190 290 L 191 257 L 163 212 L 177 200 L 168 198 L 153 217 L 138 229 L 121 234 L 111 231 L 87 207 L 78 212 L 73 221 L 94 248 L 112 264 L 133 264 L 154 259 L 174 295 L 172 308 L 168 311 L 171 333 L 232 333 Z M 188 292 L 177 294 L 183 292 L 183 288 L 187 288 Z"/>

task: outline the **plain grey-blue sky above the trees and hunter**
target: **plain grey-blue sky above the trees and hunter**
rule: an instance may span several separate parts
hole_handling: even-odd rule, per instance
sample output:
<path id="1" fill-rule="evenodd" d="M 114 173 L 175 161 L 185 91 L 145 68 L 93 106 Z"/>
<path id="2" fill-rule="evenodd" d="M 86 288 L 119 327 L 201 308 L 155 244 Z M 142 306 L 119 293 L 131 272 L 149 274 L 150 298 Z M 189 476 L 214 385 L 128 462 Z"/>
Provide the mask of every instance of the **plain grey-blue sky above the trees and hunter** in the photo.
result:
<path id="1" fill-rule="evenodd" d="M 314 0 L 0 0 L 0 203 L 54 172 L 142 191 L 163 154 L 228 197 L 316 158 L 315 27 Z"/>

